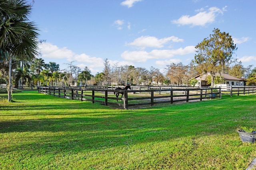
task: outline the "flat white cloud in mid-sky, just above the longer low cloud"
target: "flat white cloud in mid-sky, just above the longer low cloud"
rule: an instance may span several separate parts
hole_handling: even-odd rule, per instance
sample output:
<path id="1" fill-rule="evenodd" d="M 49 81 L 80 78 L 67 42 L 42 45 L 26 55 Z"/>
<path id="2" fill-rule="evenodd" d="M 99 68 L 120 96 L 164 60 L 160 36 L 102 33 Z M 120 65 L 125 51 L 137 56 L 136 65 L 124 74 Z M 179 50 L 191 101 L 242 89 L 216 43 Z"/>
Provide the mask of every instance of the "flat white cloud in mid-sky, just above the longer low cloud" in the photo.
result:
<path id="1" fill-rule="evenodd" d="M 183 42 L 183 39 L 179 39 L 178 37 L 166 37 L 162 39 L 158 39 L 156 37 L 150 37 L 150 36 L 141 36 L 137 39 L 135 39 L 132 43 L 129 43 L 128 45 L 135 45 L 138 47 L 155 47 L 155 48 L 161 48 L 164 47 L 164 44 L 168 43 L 169 41 L 172 42 Z"/>

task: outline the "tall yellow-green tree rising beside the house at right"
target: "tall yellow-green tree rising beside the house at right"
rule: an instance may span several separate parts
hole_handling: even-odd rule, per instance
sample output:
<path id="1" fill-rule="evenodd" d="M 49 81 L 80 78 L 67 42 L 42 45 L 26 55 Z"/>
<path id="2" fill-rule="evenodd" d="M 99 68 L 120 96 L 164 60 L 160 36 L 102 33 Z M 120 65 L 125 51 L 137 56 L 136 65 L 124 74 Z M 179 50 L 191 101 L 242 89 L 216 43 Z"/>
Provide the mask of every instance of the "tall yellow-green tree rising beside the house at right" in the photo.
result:
<path id="1" fill-rule="evenodd" d="M 214 86 L 214 77 L 222 74 L 224 66 L 232 62 L 232 54 L 237 47 L 234 41 L 226 32 L 214 28 L 210 37 L 204 38 L 196 45 L 194 64 L 201 73 L 210 72 L 212 78 L 211 86 Z"/>

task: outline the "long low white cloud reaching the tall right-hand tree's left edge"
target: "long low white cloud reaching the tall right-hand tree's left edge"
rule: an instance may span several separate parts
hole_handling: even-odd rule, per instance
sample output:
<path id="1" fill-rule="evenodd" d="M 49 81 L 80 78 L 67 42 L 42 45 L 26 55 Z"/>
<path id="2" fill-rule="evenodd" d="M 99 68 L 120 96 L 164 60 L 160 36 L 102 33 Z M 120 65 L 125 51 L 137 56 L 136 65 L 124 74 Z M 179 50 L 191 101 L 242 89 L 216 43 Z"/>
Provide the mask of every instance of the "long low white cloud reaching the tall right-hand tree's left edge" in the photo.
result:
<path id="1" fill-rule="evenodd" d="M 150 52 L 146 51 L 124 51 L 121 57 L 126 61 L 133 62 L 146 62 L 148 59 L 168 59 L 174 57 L 174 55 L 186 55 L 194 53 L 194 46 L 187 46 L 184 49 L 179 48 L 176 50 L 152 50 Z"/>

